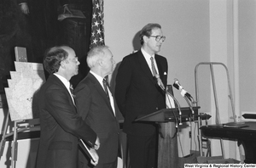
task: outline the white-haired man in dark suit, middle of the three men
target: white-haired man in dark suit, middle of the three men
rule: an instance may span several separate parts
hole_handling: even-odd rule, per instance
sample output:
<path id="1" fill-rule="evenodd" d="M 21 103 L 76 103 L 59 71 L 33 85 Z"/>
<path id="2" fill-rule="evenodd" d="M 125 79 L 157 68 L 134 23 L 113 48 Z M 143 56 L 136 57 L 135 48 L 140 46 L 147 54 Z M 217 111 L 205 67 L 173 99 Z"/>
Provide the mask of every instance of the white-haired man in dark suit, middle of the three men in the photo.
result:
<path id="1" fill-rule="evenodd" d="M 115 168 L 119 152 L 119 122 L 115 100 L 106 83 L 108 81 L 104 79 L 113 72 L 113 54 L 107 46 L 92 48 L 87 55 L 87 64 L 90 72 L 75 88 L 78 112 L 100 138 L 99 163 L 95 168 Z M 81 161 L 86 163 L 86 160 Z"/>

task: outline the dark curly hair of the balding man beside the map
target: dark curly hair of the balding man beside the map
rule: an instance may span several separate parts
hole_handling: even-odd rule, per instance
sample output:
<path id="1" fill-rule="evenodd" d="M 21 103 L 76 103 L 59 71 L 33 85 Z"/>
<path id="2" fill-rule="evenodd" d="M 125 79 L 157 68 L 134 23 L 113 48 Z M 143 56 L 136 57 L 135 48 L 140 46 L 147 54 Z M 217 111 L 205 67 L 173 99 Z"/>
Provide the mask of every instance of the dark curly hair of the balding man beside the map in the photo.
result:
<path id="1" fill-rule="evenodd" d="M 49 48 L 44 53 L 44 69 L 49 72 L 49 74 L 53 74 L 58 72 L 61 61 L 67 59 L 68 53 L 63 48 L 69 48 L 67 46 L 57 46 L 53 48 Z"/>

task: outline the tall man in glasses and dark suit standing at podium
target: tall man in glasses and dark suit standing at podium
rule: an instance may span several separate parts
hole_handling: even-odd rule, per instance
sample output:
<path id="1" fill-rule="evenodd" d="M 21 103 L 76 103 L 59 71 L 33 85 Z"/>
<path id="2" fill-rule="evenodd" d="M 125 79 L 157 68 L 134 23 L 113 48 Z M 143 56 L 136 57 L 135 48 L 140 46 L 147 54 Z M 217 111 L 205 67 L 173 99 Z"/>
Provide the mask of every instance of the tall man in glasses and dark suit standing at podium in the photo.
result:
<path id="1" fill-rule="evenodd" d="M 115 98 L 125 117 L 131 168 L 152 168 L 157 167 L 157 126 L 134 120 L 166 108 L 166 93 L 158 83 L 162 81 L 166 87 L 168 65 L 166 58 L 157 54 L 166 36 L 159 24 L 148 24 L 140 38 L 141 50 L 126 56 L 119 65 Z"/>

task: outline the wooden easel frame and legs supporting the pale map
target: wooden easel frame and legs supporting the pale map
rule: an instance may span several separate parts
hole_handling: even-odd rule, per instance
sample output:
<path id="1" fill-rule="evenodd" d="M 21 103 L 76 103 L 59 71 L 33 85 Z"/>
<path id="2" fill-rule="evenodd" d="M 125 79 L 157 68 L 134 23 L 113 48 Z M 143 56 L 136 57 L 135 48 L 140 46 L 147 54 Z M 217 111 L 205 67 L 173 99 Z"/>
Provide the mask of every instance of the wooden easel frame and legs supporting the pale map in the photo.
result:
<path id="1" fill-rule="evenodd" d="M 27 62 L 26 59 L 26 48 L 19 48 L 15 47 L 15 57 L 16 62 Z M 17 68 L 17 67 L 16 67 Z M 34 67 L 33 67 L 34 68 Z M 22 73 L 21 73 L 22 74 Z M 44 78 L 44 77 L 43 77 Z M 44 79 L 43 79 L 44 81 Z M 7 95 L 7 92 L 6 92 Z M 32 98 L 26 98 L 29 104 L 32 104 Z M 18 104 L 18 102 L 17 102 Z M 32 109 L 28 109 L 32 110 Z M 33 119 L 33 117 L 22 117 L 22 116 L 11 116 L 10 113 L 10 106 L 6 116 L 6 120 L 4 122 L 4 129 L 3 129 L 3 137 L 0 143 L 0 159 L 3 155 L 3 149 L 8 137 L 13 136 L 12 141 L 12 149 L 11 149 L 11 167 L 15 168 L 16 161 L 17 161 L 17 153 L 18 153 L 18 133 L 19 132 L 32 132 L 32 131 L 40 131 L 40 122 L 39 119 Z M 11 119 L 11 120 L 10 120 Z M 14 122 L 14 129 L 12 132 L 7 132 L 8 126 L 10 122 Z"/>

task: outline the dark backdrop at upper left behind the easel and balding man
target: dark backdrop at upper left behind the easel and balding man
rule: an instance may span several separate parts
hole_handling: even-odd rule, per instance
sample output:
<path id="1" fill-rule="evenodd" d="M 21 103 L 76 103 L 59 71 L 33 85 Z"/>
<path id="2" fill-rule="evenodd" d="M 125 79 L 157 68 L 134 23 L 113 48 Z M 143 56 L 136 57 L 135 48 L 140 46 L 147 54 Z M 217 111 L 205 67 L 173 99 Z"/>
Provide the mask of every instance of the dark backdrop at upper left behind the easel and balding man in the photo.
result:
<path id="1" fill-rule="evenodd" d="M 58 0 L 27 0 L 27 15 L 21 12 L 19 1 L 0 0 L 0 92 L 8 87 L 9 71 L 15 70 L 16 46 L 26 48 L 27 61 L 35 63 L 43 63 L 47 48 L 73 48 L 80 61 L 79 75 L 71 80 L 75 87 L 89 71 L 85 60 L 90 45 L 91 0 L 67 1 L 68 8 L 81 10 L 86 19 L 62 21 L 57 20 L 63 12 Z"/>

